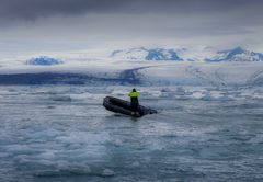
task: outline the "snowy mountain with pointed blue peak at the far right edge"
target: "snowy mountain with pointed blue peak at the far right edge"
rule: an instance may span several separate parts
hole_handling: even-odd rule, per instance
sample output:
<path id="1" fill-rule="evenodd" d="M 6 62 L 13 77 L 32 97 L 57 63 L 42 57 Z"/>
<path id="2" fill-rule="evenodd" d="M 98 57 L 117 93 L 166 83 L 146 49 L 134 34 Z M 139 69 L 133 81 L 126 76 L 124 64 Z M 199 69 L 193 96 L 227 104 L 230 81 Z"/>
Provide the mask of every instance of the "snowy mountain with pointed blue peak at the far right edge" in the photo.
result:
<path id="1" fill-rule="evenodd" d="M 207 58 L 206 61 L 263 61 L 263 54 L 247 50 L 242 47 L 217 52 L 217 54 Z"/>

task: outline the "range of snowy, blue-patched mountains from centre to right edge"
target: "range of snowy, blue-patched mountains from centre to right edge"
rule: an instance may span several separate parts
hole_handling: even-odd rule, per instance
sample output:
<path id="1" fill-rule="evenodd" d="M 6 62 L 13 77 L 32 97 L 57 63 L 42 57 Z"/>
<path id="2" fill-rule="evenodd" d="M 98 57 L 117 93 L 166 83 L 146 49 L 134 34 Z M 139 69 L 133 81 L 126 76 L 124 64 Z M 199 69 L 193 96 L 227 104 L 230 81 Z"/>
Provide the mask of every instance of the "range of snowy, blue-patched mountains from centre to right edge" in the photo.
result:
<path id="1" fill-rule="evenodd" d="M 110 58 L 117 60 L 174 60 L 174 61 L 263 61 L 263 54 L 236 47 L 217 50 L 205 48 L 130 48 L 112 52 Z"/>

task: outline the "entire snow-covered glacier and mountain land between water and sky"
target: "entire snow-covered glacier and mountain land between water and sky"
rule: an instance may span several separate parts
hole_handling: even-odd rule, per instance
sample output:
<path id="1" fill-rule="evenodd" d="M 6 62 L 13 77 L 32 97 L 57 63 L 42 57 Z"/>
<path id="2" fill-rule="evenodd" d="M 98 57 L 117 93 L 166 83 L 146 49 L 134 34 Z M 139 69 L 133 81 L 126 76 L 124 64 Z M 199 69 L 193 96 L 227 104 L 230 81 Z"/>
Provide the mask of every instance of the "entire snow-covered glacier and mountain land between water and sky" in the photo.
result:
<path id="1" fill-rule="evenodd" d="M 111 49 L 107 53 L 105 52 L 105 59 L 95 59 L 100 52 L 95 52 L 95 54 L 81 52 L 83 54 L 73 53 L 69 55 L 64 53 L 42 53 L 46 57 L 28 54 L 22 55 L 22 57 L 0 59 L 0 86 L 215 86 L 218 88 L 226 86 L 263 86 L 263 61 L 241 61 L 240 64 L 231 61 L 262 60 L 262 54 L 248 52 L 240 47 L 219 53 L 214 47 L 201 47 L 199 49 L 192 47 L 181 48 L 176 49 L 176 52 L 174 50 L 176 53 L 174 59 L 176 59 L 170 62 L 159 61 L 160 59 L 173 59 L 171 54 L 173 52 L 165 52 L 169 49 L 134 48 L 132 50 L 129 56 L 135 56 L 135 60 L 144 61 L 125 61 L 125 59 L 119 59 L 119 55 L 127 56 L 126 52 L 113 53 L 112 56 L 117 57 L 111 60 L 108 58 Z M 164 53 L 169 54 L 165 55 Z M 92 58 L 93 55 L 94 59 Z M 215 55 L 221 55 L 221 57 L 211 59 Z M 248 55 L 250 59 L 245 58 Z M 30 59 L 32 57 L 35 58 Z M 204 61 L 206 60 L 205 58 L 209 57 L 215 64 Z M 193 58 L 193 61 L 190 61 L 191 58 Z M 179 61 L 182 59 L 184 61 Z M 203 62 L 197 62 L 197 60 Z"/>

